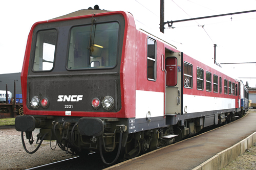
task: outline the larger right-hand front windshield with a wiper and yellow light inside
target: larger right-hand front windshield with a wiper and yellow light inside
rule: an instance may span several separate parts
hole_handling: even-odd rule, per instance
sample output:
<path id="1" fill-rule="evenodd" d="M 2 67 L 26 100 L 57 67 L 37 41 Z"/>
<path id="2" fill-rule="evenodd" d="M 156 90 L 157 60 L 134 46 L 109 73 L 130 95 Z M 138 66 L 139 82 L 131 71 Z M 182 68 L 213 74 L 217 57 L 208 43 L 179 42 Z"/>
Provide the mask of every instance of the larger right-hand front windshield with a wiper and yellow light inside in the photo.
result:
<path id="1" fill-rule="evenodd" d="M 112 68 L 117 64 L 118 22 L 71 29 L 67 68 Z"/>

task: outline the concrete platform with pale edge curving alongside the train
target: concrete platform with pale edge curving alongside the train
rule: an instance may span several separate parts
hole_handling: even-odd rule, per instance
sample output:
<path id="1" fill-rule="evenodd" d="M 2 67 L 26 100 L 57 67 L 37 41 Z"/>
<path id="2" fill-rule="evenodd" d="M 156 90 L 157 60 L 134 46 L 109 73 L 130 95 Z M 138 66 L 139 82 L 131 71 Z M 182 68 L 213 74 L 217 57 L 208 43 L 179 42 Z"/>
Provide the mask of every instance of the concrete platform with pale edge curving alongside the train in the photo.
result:
<path id="1" fill-rule="evenodd" d="M 256 142 L 256 110 L 236 122 L 106 169 L 221 169 Z"/>

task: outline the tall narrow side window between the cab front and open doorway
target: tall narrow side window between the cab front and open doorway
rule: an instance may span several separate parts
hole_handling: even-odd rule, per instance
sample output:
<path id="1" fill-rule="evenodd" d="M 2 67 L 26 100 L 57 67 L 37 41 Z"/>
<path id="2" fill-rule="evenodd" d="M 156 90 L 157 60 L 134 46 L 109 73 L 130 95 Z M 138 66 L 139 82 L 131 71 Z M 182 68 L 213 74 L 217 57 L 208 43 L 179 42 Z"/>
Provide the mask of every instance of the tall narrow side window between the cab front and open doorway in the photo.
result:
<path id="1" fill-rule="evenodd" d="M 156 41 L 147 38 L 147 79 L 156 81 Z"/>

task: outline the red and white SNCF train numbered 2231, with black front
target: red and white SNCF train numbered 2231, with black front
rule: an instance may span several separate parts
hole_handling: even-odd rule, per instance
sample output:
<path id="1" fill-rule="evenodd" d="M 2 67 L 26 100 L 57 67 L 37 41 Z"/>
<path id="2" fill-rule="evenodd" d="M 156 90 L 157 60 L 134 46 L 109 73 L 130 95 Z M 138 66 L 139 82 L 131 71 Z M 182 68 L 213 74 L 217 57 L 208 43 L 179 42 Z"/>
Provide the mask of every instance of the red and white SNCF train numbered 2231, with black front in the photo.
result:
<path id="1" fill-rule="evenodd" d="M 229 122 L 248 109 L 243 83 L 136 27 L 131 13 L 80 10 L 36 22 L 15 128 L 64 151 L 131 158 Z M 247 99 L 246 99 L 247 97 Z M 23 145 L 28 151 L 23 139 Z M 39 145 L 38 145 L 39 147 Z M 122 148 L 125 148 L 122 150 Z M 37 148 L 38 149 L 38 148 Z M 116 153 L 111 162 L 104 160 Z"/>

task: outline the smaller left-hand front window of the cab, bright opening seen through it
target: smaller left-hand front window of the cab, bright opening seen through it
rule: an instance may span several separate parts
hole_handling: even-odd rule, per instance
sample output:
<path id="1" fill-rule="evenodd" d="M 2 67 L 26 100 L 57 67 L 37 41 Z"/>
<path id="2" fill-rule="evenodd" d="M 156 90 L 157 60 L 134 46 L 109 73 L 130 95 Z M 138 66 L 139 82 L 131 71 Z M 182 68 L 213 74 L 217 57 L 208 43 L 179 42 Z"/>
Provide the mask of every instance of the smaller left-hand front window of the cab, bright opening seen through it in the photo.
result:
<path id="1" fill-rule="evenodd" d="M 45 30 L 37 33 L 34 71 L 51 70 L 53 68 L 56 42 L 56 30 Z"/>

